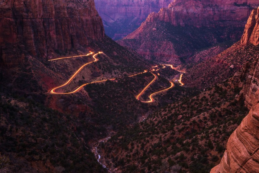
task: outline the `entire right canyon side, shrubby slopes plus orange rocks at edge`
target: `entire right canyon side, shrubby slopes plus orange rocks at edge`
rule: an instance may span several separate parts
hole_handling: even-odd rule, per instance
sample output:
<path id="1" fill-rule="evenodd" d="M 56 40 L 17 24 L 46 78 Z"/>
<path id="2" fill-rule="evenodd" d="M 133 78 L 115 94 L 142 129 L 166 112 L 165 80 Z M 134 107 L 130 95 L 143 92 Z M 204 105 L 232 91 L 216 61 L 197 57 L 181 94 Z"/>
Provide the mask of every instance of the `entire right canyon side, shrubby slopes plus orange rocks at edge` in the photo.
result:
<path id="1" fill-rule="evenodd" d="M 203 92 L 166 105 L 99 148 L 112 172 L 206 172 L 214 164 L 211 173 L 258 172 L 257 14 L 254 9 L 240 41 L 180 66 L 187 68 L 183 83 Z"/>

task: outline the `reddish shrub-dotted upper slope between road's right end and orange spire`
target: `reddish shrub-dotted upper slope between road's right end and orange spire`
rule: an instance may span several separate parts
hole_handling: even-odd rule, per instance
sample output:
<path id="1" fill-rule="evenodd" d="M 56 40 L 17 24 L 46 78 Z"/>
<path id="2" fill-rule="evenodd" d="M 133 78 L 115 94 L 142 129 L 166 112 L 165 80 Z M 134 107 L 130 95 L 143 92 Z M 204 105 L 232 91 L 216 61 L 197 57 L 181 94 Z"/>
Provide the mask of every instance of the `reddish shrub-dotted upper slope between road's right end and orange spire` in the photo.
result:
<path id="1" fill-rule="evenodd" d="M 258 45 L 248 44 L 243 46 L 239 41 L 217 56 L 197 64 L 188 63 L 182 65 L 187 68 L 183 82 L 199 89 L 213 86 L 233 76 L 248 59 L 256 57 L 258 51 Z"/>

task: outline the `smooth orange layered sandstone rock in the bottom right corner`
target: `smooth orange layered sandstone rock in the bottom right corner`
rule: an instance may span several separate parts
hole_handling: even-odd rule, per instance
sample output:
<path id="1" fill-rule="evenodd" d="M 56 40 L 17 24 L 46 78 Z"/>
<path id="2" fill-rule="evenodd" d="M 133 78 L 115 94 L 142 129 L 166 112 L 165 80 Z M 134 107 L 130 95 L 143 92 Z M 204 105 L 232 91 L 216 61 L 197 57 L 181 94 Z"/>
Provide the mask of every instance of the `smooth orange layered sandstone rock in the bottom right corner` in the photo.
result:
<path id="1" fill-rule="evenodd" d="M 254 102 L 249 114 L 228 139 L 220 164 L 211 173 L 259 172 L 259 101 Z"/>

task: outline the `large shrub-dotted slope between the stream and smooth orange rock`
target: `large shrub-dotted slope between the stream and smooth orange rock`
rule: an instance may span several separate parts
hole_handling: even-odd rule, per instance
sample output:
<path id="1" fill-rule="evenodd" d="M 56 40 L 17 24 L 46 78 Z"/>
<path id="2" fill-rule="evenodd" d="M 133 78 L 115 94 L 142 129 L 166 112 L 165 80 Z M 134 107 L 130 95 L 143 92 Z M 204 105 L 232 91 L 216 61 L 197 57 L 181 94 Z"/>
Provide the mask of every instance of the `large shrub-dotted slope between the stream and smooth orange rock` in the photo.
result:
<path id="1" fill-rule="evenodd" d="M 208 172 L 247 113 L 226 80 L 196 97 L 167 105 L 99 148 L 112 172 Z M 180 169 L 181 168 L 181 169 Z"/>

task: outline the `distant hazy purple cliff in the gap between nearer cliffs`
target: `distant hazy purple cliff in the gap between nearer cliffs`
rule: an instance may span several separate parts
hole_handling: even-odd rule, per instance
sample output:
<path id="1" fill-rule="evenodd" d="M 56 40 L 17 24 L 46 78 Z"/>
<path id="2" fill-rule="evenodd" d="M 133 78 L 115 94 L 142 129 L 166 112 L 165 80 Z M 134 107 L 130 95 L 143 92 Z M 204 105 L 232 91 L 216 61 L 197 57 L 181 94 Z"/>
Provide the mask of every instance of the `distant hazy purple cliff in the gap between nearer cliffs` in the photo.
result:
<path id="1" fill-rule="evenodd" d="M 173 0 L 95 0 L 106 34 L 121 39 L 137 29 L 146 17 Z"/>

